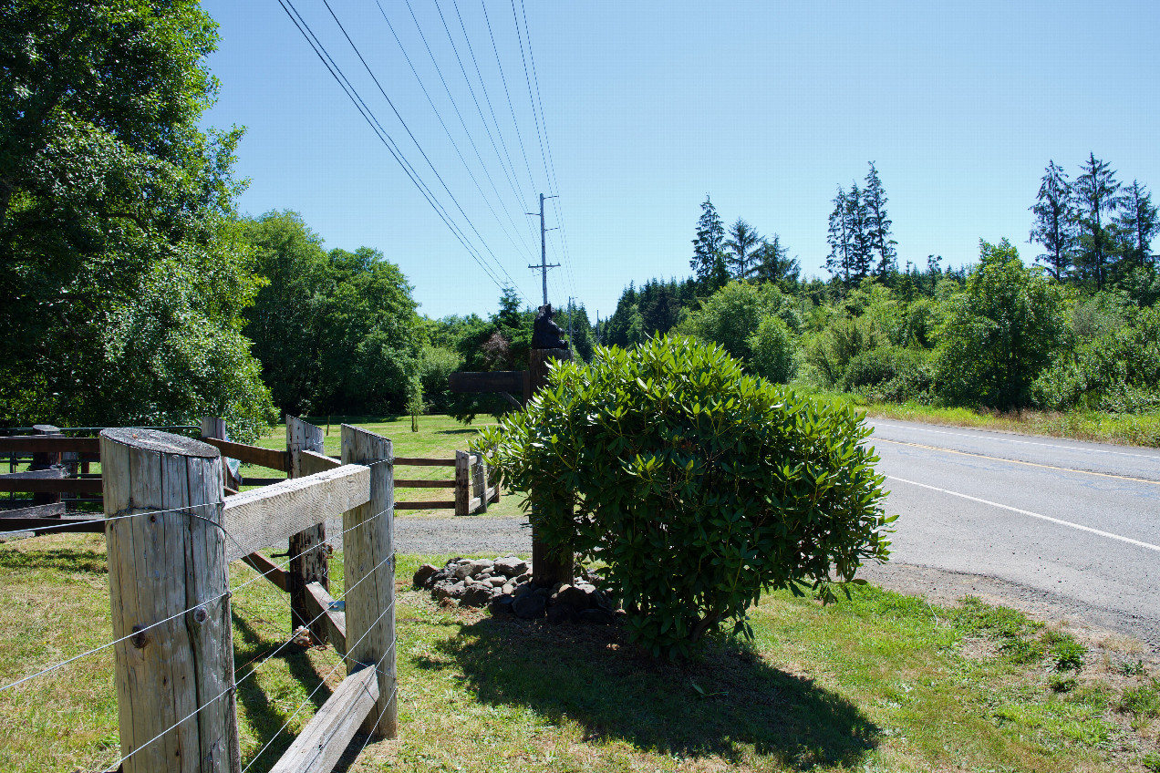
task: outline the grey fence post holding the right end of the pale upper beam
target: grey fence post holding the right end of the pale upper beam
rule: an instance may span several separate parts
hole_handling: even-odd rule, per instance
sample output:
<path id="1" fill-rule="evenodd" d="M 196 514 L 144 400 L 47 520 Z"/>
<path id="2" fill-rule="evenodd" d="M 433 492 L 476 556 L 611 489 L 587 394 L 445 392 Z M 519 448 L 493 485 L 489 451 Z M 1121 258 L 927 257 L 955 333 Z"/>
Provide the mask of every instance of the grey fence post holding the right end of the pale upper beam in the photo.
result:
<path id="1" fill-rule="evenodd" d="M 342 464 L 370 466 L 370 502 L 342 513 L 347 603 L 347 673 L 378 670 L 378 700 L 363 732 L 398 736 L 394 647 L 394 460 L 391 442 L 342 425 Z M 372 575 L 372 576 L 368 576 Z"/>

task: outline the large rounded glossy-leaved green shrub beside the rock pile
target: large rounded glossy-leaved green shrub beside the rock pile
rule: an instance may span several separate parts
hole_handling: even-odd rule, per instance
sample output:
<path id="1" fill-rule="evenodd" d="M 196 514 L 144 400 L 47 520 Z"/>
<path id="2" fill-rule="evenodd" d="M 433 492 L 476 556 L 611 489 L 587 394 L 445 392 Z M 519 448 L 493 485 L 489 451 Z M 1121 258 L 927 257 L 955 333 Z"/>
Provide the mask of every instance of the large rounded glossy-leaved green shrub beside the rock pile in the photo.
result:
<path id="1" fill-rule="evenodd" d="M 746 375 L 719 347 L 664 337 L 560 363 L 480 447 L 528 493 L 550 552 L 604 562 L 654 655 L 690 651 L 762 591 L 854 579 L 884 560 L 877 457 L 861 416 Z"/>

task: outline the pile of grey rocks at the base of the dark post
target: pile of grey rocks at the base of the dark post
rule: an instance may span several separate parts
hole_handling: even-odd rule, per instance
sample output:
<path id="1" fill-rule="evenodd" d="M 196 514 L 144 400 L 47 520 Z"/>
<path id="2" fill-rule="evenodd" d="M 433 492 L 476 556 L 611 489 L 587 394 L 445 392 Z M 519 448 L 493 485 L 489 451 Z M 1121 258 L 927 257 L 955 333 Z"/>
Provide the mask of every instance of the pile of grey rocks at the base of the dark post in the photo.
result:
<path id="1" fill-rule="evenodd" d="M 616 622 L 616 608 L 601 578 L 580 569 L 580 577 L 554 588 L 531 583 L 531 563 L 509 555 L 488 559 L 451 559 L 443 568 L 430 563 L 419 567 L 414 583 L 438 600 L 459 606 L 491 607 L 492 614 L 514 614 L 525 620 L 548 618 L 549 622 Z"/>

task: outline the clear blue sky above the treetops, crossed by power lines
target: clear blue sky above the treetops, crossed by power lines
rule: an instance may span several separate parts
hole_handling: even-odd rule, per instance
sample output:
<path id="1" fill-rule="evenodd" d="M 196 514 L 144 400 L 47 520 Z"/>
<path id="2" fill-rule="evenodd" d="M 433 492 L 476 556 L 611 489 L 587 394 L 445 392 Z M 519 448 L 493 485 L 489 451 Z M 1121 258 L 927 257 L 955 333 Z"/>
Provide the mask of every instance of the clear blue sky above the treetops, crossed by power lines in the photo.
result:
<path id="1" fill-rule="evenodd" d="M 548 254 L 565 265 L 549 300 L 574 296 L 594 318 L 630 280 L 689 274 L 706 192 L 726 224 L 780 234 L 825 276 L 836 185 L 861 184 L 871 160 L 904 264 L 969 263 L 980 238 L 1003 236 L 1029 262 L 1028 207 L 1050 159 L 1074 176 L 1093 151 L 1122 181 L 1160 185 L 1155 2 L 515 0 L 515 19 L 512 0 L 329 3 L 430 166 L 322 0 L 293 0 L 491 275 L 530 305 L 539 232 L 524 212 L 539 192 L 560 196 Z M 278 1 L 203 7 L 222 36 L 205 123 L 247 127 L 241 210 L 296 210 L 327 247 L 383 250 L 421 313 L 492 312 L 493 278 Z"/>

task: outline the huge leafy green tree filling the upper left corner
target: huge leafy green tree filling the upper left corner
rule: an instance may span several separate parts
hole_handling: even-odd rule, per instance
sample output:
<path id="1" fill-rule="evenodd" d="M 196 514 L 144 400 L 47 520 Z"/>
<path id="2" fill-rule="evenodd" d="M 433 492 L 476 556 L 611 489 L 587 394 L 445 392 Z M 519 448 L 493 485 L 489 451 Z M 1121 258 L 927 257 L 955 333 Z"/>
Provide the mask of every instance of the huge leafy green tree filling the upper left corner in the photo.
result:
<path id="1" fill-rule="evenodd" d="M 271 415 L 239 335 L 239 130 L 198 126 L 217 36 L 191 0 L 0 13 L 0 421 Z"/>

